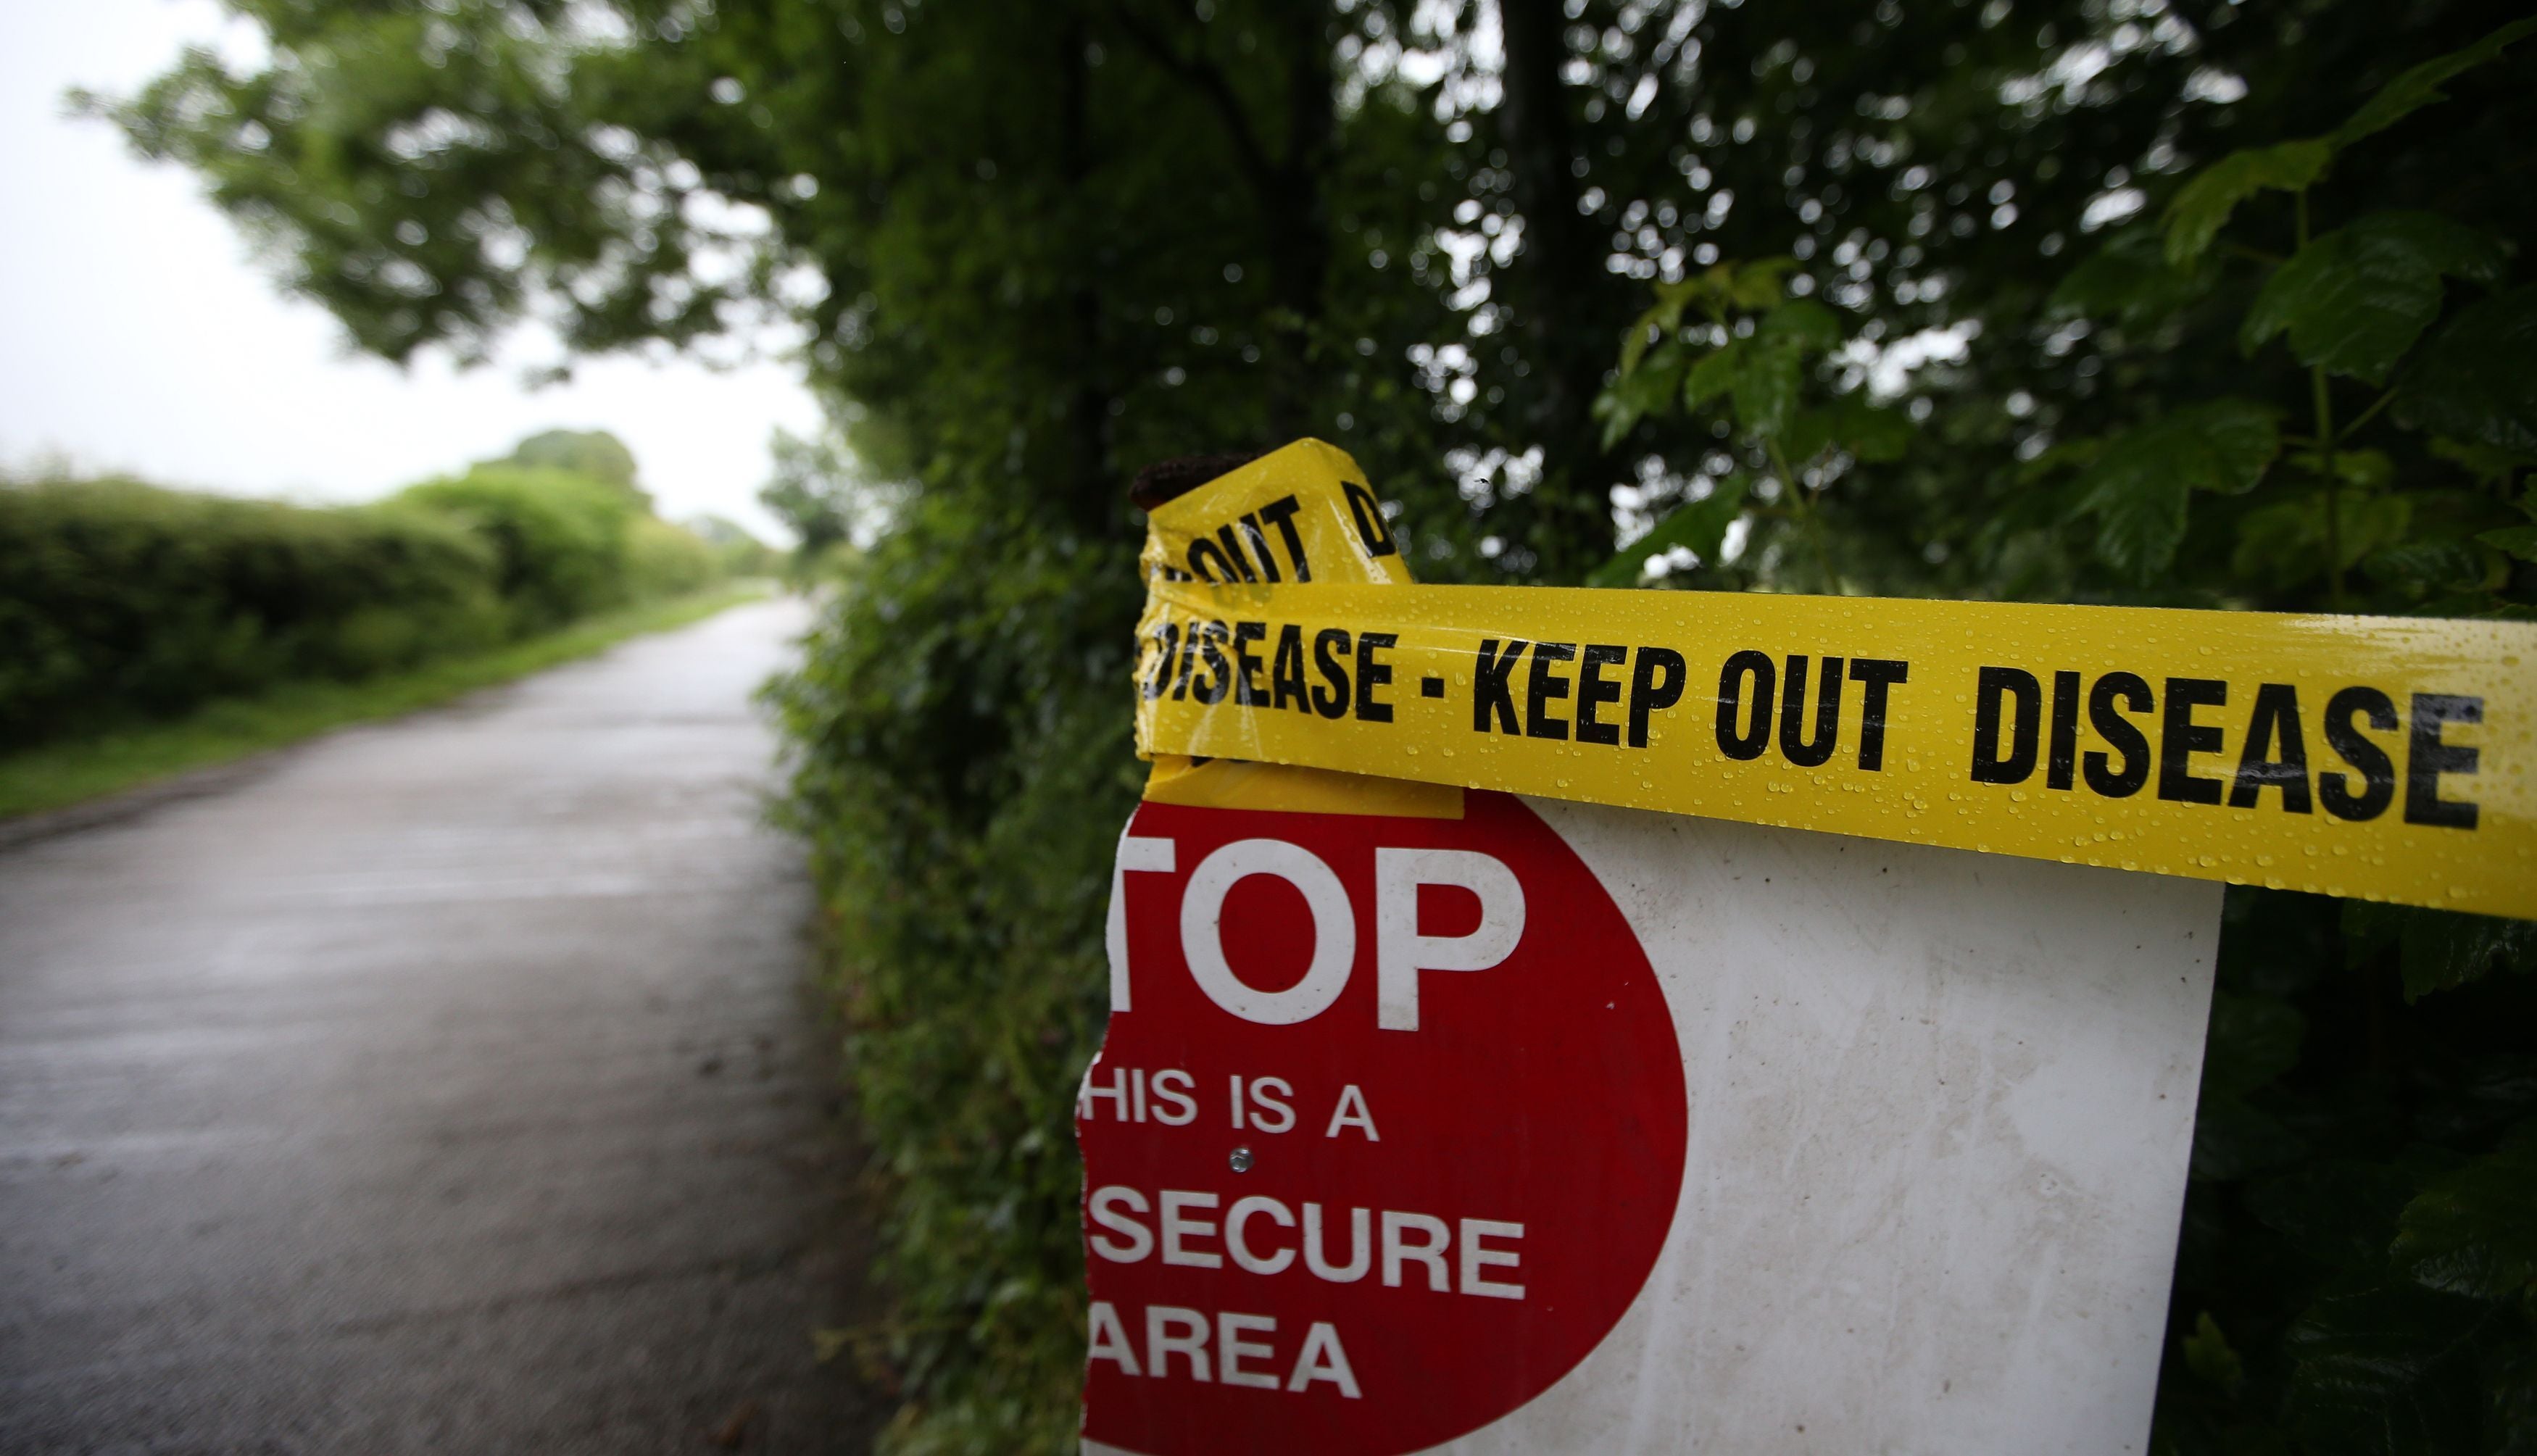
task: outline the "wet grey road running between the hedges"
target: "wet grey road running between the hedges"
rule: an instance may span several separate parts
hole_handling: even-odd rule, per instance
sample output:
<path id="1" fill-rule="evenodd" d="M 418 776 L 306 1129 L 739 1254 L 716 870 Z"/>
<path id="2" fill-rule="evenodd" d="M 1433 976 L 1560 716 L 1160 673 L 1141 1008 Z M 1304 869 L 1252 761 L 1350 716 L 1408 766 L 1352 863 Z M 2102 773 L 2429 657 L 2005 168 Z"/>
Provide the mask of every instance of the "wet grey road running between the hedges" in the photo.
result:
<path id="1" fill-rule="evenodd" d="M 863 1451 L 753 604 L 0 852 L 0 1451 Z"/>

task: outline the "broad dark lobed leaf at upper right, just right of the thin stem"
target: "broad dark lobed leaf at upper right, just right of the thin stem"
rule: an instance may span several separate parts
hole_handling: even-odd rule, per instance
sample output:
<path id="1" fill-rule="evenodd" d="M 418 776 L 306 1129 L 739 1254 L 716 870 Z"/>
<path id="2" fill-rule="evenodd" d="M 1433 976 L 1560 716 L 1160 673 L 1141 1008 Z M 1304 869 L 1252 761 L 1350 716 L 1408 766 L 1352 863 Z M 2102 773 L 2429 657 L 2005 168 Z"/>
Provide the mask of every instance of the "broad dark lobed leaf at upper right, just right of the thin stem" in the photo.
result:
<path id="1" fill-rule="evenodd" d="M 2494 282 L 2504 249 L 2436 213 L 2367 213 L 2273 269 L 2238 330 L 2245 353 L 2288 330 L 2304 365 L 2367 383 L 2441 317 L 2441 276 Z"/>

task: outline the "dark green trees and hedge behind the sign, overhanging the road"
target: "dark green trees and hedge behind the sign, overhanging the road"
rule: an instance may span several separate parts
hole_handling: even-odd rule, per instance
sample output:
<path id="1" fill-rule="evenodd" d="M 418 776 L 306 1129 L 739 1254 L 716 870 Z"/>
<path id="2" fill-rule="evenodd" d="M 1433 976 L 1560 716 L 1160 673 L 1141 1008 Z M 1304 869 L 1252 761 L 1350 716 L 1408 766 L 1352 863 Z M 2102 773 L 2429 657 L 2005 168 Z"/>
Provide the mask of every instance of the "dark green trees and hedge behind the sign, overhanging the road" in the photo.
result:
<path id="1" fill-rule="evenodd" d="M 1436 581 L 2532 601 L 2514 5 L 233 8 L 91 107 L 360 348 L 786 317 L 840 441 L 769 502 L 890 490 L 776 703 L 906 1451 L 1071 1431 L 1139 464 L 1327 436 Z M 2529 946 L 2230 916 L 2159 1443 L 2537 1438 Z"/>

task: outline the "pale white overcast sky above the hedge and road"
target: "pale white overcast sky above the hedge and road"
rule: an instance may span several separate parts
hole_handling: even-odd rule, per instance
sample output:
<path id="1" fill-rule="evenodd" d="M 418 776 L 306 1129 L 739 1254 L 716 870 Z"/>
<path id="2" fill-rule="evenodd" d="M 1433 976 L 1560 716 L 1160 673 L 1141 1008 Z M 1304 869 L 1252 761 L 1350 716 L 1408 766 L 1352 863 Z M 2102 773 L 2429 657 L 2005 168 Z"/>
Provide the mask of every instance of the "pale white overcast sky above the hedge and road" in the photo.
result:
<path id="1" fill-rule="evenodd" d="M 251 30 L 213 0 L 0 0 L 0 462 L 58 452 L 167 484 L 335 502 L 507 454 L 540 429 L 609 429 L 662 515 L 776 535 L 753 502 L 766 434 L 819 419 L 794 365 L 609 358 L 530 391 L 523 373 L 556 358 L 535 337 L 464 373 L 348 355 L 325 309 L 249 264 L 190 172 L 63 117 L 68 86 L 122 94 L 188 43 L 254 53 Z"/>

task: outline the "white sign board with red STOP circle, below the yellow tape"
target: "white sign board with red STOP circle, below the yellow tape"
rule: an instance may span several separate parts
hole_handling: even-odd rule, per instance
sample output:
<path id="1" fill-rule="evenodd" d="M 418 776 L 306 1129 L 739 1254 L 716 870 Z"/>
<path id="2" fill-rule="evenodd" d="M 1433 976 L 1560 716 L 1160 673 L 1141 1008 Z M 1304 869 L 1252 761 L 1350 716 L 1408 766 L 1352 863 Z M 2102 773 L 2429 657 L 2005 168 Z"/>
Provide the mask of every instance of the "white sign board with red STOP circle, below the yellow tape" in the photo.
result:
<path id="1" fill-rule="evenodd" d="M 2146 1448 L 2220 885 L 1477 791 L 1124 845 L 1088 1453 Z"/>

